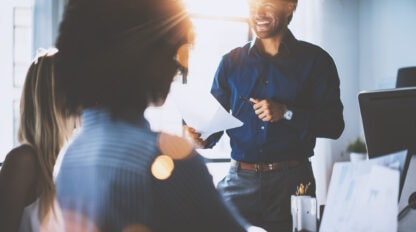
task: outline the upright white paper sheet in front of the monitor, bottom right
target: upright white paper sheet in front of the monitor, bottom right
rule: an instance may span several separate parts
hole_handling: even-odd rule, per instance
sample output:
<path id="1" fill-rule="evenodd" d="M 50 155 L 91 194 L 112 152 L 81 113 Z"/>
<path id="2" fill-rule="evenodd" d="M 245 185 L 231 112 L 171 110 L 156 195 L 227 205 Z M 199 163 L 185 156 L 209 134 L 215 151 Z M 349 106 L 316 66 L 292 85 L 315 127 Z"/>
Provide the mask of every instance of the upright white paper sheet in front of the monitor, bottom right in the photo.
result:
<path id="1" fill-rule="evenodd" d="M 406 153 L 335 163 L 319 231 L 397 231 L 399 179 Z"/>

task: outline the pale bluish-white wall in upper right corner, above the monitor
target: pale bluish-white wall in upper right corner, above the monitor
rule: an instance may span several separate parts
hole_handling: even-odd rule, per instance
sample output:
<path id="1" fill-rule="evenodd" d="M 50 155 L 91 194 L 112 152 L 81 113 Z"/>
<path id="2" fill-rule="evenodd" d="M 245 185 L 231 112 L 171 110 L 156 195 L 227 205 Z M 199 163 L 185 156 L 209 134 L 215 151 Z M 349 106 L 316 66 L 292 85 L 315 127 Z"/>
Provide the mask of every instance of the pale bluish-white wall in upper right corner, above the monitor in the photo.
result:
<path id="1" fill-rule="evenodd" d="M 393 88 L 400 67 L 416 66 L 416 1 L 360 3 L 360 89 Z"/>

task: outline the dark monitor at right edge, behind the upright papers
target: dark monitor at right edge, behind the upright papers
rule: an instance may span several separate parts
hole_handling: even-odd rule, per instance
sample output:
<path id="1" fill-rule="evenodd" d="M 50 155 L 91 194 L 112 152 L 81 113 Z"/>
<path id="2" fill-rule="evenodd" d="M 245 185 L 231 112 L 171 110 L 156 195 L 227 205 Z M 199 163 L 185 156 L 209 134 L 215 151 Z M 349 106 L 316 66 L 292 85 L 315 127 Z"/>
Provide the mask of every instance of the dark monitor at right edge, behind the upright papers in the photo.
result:
<path id="1" fill-rule="evenodd" d="M 375 90 L 358 95 L 369 158 L 416 144 L 416 87 Z"/>

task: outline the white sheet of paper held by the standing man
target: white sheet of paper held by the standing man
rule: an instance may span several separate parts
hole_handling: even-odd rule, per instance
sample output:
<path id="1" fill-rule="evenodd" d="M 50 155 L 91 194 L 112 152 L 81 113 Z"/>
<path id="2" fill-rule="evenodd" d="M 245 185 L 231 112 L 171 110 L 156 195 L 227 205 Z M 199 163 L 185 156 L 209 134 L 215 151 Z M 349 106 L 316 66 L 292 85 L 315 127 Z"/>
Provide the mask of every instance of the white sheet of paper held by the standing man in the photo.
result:
<path id="1" fill-rule="evenodd" d="M 228 113 L 211 93 L 182 84 L 173 84 L 170 92 L 183 120 L 206 139 L 211 134 L 243 123 Z"/>

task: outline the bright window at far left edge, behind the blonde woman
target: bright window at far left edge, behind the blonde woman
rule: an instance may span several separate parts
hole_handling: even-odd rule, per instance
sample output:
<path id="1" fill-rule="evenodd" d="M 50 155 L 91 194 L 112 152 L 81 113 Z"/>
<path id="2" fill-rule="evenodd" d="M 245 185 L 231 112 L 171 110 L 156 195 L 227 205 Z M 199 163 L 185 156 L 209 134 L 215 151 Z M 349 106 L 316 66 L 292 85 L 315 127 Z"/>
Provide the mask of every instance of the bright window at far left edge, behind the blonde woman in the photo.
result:
<path id="1" fill-rule="evenodd" d="M 0 7 L 0 163 L 17 145 L 20 94 L 32 60 L 32 9 L 31 0 L 3 1 Z"/>

